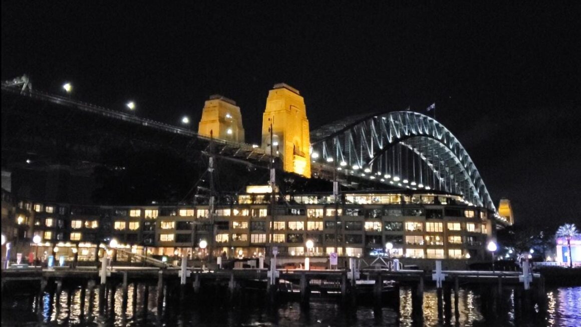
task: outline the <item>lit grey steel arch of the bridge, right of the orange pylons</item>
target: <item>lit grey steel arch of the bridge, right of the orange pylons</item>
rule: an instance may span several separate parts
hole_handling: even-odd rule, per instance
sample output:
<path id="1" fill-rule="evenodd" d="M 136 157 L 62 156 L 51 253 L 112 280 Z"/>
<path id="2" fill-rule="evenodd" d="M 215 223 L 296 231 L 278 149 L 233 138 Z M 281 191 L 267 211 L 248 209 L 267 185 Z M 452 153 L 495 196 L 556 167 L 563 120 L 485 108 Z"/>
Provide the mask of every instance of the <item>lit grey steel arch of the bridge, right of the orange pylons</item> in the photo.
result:
<path id="1" fill-rule="evenodd" d="M 496 212 L 460 141 L 424 114 L 404 111 L 352 116 L 311 131 L 310 136 L 312 159 L 327 164 L 334 161 L 343 174 L 401 188 L 459 193 L 467 202 Z"/>

